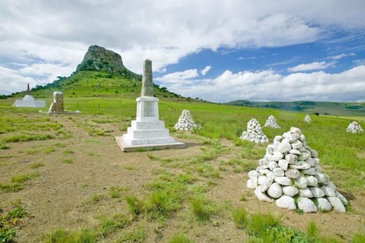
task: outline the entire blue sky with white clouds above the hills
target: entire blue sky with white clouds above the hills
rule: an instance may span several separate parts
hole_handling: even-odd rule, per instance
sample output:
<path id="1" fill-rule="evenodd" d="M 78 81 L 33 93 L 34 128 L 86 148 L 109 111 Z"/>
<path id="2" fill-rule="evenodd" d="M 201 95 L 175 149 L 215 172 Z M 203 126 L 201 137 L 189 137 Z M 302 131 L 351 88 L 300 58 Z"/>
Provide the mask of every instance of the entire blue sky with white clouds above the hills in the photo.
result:
<path id="1" fill-rule="evenodd" d="M 0 94 L 69 76 L 87 47 L 185 97 L 365 101 L 365 1 L 0 0 Z"/>

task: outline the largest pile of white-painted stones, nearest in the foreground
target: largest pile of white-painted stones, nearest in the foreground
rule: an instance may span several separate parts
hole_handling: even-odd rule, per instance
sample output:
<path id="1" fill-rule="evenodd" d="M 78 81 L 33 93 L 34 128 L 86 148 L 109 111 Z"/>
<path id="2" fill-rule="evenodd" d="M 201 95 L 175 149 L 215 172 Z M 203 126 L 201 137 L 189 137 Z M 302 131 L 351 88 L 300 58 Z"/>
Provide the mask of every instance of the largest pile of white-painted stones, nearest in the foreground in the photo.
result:
<path id="1" fill-rule="evenodd" d="M 256 170 L 248 172 L 247 187 L 258 199 L 279 208 L 303 212 L 346 212 L 348 201 L 322 173 L 318 153 L 305 143 L 299 128 L 275 136 Z"/>

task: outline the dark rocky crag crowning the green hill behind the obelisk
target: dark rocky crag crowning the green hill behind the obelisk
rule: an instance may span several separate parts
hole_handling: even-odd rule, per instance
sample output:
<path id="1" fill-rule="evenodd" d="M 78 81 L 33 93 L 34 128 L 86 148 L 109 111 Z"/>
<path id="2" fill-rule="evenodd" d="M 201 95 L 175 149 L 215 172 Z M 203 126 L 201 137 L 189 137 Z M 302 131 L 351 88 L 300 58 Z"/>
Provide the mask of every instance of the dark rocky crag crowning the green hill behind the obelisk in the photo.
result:
<path id="1" fill-rule="evenodd" d="M 141 75 L 135 74 L 124 67 L 121 56 L 118 53 L 96 45 L 89 47 L 83 61 L 77 66 L 76 72 L 92 70 L 119 74 L 135 80 L 142 79 Z"/>

